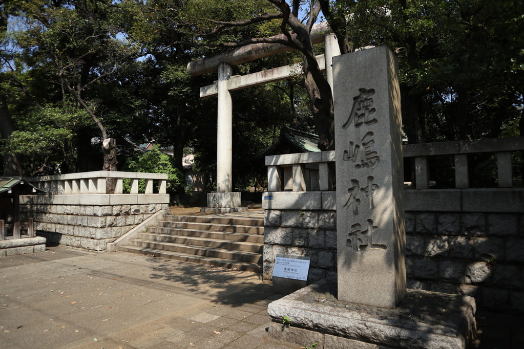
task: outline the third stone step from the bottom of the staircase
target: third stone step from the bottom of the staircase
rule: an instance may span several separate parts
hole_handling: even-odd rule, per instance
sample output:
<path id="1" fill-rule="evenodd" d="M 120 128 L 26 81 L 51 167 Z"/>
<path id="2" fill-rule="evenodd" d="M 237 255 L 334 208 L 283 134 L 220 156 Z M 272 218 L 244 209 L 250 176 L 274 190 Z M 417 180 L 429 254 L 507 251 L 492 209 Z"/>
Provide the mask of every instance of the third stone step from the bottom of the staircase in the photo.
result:
<path id="1" fill-rule="evenodd" d="M 213 249 L 225 249 L 235 251 L 247 251 L 247 252 L 263 252 L 263 245 L 260 243 L 250 243 L 243 241 L 227 241 L 223 239 L 212 239 L 202 237 L 189 237 L 189 236 L 178 236 L 171 234 L 158 234 L 158 233 L 139 233 L 138 239 L 155 241 L 155 242 L 168 242 L 173 244 L 184 244 L 191 246 L 202 246 L 211 247 Z"/>

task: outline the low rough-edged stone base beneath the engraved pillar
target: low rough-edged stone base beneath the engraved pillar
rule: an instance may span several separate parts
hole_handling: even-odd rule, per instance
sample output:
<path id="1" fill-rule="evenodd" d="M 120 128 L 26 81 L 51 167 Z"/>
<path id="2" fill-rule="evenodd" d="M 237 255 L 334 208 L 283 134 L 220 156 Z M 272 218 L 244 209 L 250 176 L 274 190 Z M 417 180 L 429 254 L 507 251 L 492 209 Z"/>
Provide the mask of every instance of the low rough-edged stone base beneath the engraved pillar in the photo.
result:
<path id="1" fill-rule="evenodd" d="M 335 294 L 336 285 L 323 281 L 269 303 L 269 336 L 318 349 L 466 348 L 476 332 L 469 296 L 408 289 L 397 308 L 386 309 Z"/>

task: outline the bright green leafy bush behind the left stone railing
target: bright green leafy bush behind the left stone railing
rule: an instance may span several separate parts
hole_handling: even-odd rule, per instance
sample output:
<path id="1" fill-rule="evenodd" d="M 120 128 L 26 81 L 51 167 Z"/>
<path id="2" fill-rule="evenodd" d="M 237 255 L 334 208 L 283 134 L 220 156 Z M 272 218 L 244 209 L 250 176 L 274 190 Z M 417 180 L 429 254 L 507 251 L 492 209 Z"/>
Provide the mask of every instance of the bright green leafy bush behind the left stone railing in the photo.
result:
<path id="1" fill-rule="evenodd" d="M 127 159 L 126 171 L 167 174 L 167 192 L 169 194 L 176 193 L 184 183 L 183 175 L 178 168 L 173 166 L 171 156 L 162 153 L 158 145 L 154 145 L 151 150 L 146 152 L 135 152 L 133 156 Z M 129 191 L 129 181 L 124 183 L 124 190 Z M 145 181 L 139 181 L 138 190 L 140 193 L 144 193 Z"/>

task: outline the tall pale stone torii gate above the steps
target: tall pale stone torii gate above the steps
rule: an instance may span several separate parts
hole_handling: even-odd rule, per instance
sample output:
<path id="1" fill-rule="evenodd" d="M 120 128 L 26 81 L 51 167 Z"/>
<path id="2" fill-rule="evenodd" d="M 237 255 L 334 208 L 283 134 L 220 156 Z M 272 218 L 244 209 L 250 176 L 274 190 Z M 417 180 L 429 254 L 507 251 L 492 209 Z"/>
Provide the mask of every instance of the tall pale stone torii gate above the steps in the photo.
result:
<path id="1" fill-rule="evenodd" d="M 320 43 L 324 40 L 325 52 L 323 55 L 318 55 L 316 60 L 321 70 L 326 70 L 328 82 L 333 89 L 332 59 L 340 55 L 340 50 L 335 36 L 330 32 L 331 29 L 325 22 L 315 24 L 311 30 L 311 41 Z M 271 38 L 286 39 L 283 34 Z M 302 63 L 297 63 L 242 76 L 231 76 L 232 65 L 254 61 L 290 50 L 293 50 L 293 48 L 282 44 L 256 43 L 188 64 L 188 72 L 191 76 L 218 71 L 218 81 L 215 81 L 212 85 L 200 88 L 201 98 L 218 97 L 216 193 L 208 194 L 208 208 L 203 208 L 203 212 L 222 213 L 247 210 L 247 208 L 241 207 L 241 193 L 233 192 L 232 188 L 233 103 L 231 91 L 285 80 L 302 74 Z"/>

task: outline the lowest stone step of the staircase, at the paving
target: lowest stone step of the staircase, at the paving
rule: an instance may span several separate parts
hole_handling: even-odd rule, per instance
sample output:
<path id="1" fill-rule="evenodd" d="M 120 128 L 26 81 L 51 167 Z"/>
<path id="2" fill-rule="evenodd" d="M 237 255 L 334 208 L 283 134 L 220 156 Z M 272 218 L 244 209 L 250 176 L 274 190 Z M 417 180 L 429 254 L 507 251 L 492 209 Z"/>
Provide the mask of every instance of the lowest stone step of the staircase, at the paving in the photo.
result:
<path id="1" fill-rule="evenodd" d="M 235 268 L 238 270 L 254 272 L 254 273 L 262 272 L 261 264 L 256 264 L 256 263 L 223 260 L 221 258 L 213 258 L 213 257 L 194 255 L 194 254 L 189 254 L 189 253 L 164 251 L 164 250 L 157 250 L 157 249 L 152 249 L 152 248 L 130 246 L 130 245 L 121 246 L 121 247 L 118 247 L 118 249 L 120 251 L 153 255 L 153 256 L 169 258 L 169 259 L 177 260 L 177 261 L 200 263 L 200 264 L 212 265 L 212 266 L 218 266 L 218 267 L 224 267 L 224 268 Z"/>

